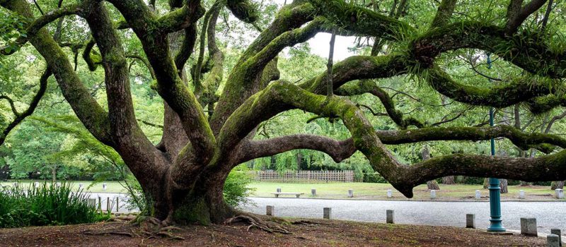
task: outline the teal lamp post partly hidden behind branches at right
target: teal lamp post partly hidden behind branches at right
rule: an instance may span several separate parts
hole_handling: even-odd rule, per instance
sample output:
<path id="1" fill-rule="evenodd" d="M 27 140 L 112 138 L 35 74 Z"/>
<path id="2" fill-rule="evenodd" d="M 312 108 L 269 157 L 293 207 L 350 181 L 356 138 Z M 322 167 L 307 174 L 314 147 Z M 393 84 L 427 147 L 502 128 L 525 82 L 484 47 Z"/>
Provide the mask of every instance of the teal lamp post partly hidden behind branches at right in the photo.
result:
<path id="1" fill-rule="evenodd" d="M 491 56 L 487 54 L 487 68 L 491 68 Z M 490 126 L 493 123 L 493 107 L 490 108 Z M 495 139 L 491 138 L 491 155 L 495 156 Z M 490 227 L 487 232 L 505 232 L 501 219 L 501 188 L 499 187 L 499 179 L 490 178 Z"/>

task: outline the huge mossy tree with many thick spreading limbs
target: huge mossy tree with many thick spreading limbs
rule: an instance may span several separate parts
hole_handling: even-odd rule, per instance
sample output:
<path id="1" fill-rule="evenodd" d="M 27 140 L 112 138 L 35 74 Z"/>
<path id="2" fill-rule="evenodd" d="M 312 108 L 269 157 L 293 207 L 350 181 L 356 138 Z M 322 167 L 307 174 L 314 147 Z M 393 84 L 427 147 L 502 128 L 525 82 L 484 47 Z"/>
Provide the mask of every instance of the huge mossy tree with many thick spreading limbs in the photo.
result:
<path id="1" fill-rule="evenodd" d="M 380 88 L 379 80 L 372 80 L 408 75 L 404 81 L 426 82 L 444 97 L 471 106 L 504 108 L 520 103 L 536 114 L 564 107 L 566 52 L 558 40 L 560 31 L 556 32 L 564 27 L 546 28 L 550 13 L 558 8 L 552 1 L 548 11 L 542 0 L 495 1 L 489 6 L 495 15 L 486 17 L 461 13 L 474 8 L 470 1 L 462 3 L 463 9 L 458 11 L 456 0 L 443 0 L 434 6 L 434 15 L 424 20 L 418 11 L 408 11 L 410 0 L 295 0 L 284 5 L 266 27 L 258 18 L 258 5 L 246 0 L 218 0 L 208 9 L 201 1 L 170 0 L 168 11 L 156 11 L 156 4 L 163 3 L 155 0 L 62 2 L 38 16 L 34 11 L 37 3 L 0 0 L 2 7 L 25 19 L 25 35 L 1 52 L 13 54 L 14 46 L 27 43 L 35 47 L 47 63 L 45 76 L 52 73 L 56 78 L 65 100 L 88 131 L 121 155 L 154 202 L 154 216 L 164 224 L 222 222 L 237 215 L 226 205 L 222 193 L 231 169 L 258 157 L 297 149 L 325 152 L 336 162 L 362 152 L 371 167 L 408 198 L 415 186 L 443 176 L 566 179 L 566 150 L 538 158 L 454 154 L 401 164 L 386 145 L 507 138 L 521 150 L 552 152 L 566 147 L 566 140 L 507 125 L 439 127 L 405 118 L 393 98 Z M 392 5 L 387 7 L 391 11 L 384 12 L 380 4 Z M 216 21 L 224 9 L 260 30 L 225 80 L 224 53 L 216 40 Z M 54 39 L 57 35 L 46 28 L 71 15 L 88 24 L 92 38 L 85 44 Z M 318 32 L 369 38 L 375 44 L 369 56 L 352 56 L 335 64 L 330 56 L 328 71 L 315 78 L 299 82 L 279 78 L 279 53 Z M 139 40 L 142 51 L 125 52 L 125 38 Z M 88 67 L 103 70 L 107 107 L 83 85 L 62 47 L 82 49 Z M 489 52 L 524 73 L 492 87 L 458 82 L 444 66 L 458 59 L 455 52 L 463 49 L 476 54 Z M 196 62 L 185 68 L 191 56 Z M 144 135 L 139 126 L 142 121 L 134 113 L 130 58 L 146 64 L 154 78 L 153 88 L 164 101 L 163 136 L 158 145 Z M 363 94 L 379 98 L 386 109 L 380 116 L 391 118 L 398 130 L 374 129 L 361 106 L 350 100 Z M 291 109 L 329 121 L 339 119 L 351 138 L 296 133 L 254 140 L 260 123 Z"/>

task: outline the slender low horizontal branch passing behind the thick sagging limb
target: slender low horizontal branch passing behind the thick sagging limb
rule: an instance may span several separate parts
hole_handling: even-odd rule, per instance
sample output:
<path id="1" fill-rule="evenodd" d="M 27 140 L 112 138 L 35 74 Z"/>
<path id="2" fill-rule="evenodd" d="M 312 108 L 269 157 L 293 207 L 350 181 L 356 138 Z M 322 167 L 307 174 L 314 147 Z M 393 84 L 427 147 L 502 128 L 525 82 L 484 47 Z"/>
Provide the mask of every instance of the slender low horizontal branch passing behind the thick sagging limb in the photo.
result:
<path id="1" fill-rule="evenodd" d="M 566 148 L 566 140 L 557 135 L 541 133 L 524 133 L 512 126 L 495 127 L 449 127 L 420 128 L 410 131 L 376 131 L 377 136 L 386 145 L 420 143 L 435 140 L 490 140 L 491 138 L 507 138 L 521 150 L 538 147 L 541 144 L 556 145 Z M 352 156 L 357 149 L 352 138 L 334 140 L 320 135 L 284 135 L 266 140 L 243 140 L 238 147 L 238 164 L 259 157 L 277 155 L 290 150 L 308 149 L 325 152 L 341 162 Z"/>

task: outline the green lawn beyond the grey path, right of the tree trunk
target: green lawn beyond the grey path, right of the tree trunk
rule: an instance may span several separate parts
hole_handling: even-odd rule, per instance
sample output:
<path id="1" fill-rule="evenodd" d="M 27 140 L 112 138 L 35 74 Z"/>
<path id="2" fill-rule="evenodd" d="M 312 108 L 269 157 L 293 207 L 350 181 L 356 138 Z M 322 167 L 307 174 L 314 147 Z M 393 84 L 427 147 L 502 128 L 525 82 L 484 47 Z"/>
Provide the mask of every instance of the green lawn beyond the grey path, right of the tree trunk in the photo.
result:
<path id="1" fill-rule="evenodd" d="M 393 190 L 393 200 L 408 200 L 388 183 L 251 183 L 249 188 L 255 189 L 253 195 L 258 197 L 273 197 L 272 193 L 281 188 L 282 192 L 305 193 L 303 197 L 313 198 L 311 188 L 316 188 L 316 198 L 347 198 L 348 189 L 354 190 L 354 199 L 387 200 L 387 190 Z M 502 194 L 503 200 L 516 200 L 519 191 L 524 190 L 526 200 L 557 200 L 553 198 L 554 191 L 550 186 L 509 186 L 509 193 Z M 481 185 L 444 185 L 440 184 L 437 200 L 474 200 L 475 190 L 480 190 L 482 200 L 489 200 L 489 190 Z M 415 197 L 410 200 L 429 200 L 430 192 L 426 185 L 414 189 Z M 282 195 L 291 196 L 294 195 Z M 485 197 L 485 198 L 484 198 Z"/>

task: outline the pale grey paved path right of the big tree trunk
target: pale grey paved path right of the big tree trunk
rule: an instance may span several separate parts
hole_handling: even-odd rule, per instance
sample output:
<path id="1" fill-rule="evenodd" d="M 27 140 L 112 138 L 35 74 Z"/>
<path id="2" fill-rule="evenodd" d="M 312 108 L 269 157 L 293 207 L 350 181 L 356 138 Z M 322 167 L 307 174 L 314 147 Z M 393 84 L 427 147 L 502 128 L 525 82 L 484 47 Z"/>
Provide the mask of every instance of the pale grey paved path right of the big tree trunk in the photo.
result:
<path id="1" fill-rule="evenodd" d="M 419 202 L 395 200 L 322 200 L 303 198 L 250 198 L 255 205 L 243 207 L 248 212 L 265 214 L 266 205 L 275 205 L 281 217 L 322 218 L 323 207 L 332 207 L 333 219 L 360 222 L 385 222 L 386 210 L 395 210 L 399 224 L 426 224 L 464 227 L 466 214 L 475 214 L 475 224 L 486 229 L 490 222 L 487 202 Z M 566 233 L 566 202 L 503 202 L 503 225 L 520 230 L 521 217 L 535 217 L 538 232 L 550 234 L 550 228 Z"/>

